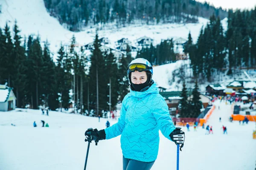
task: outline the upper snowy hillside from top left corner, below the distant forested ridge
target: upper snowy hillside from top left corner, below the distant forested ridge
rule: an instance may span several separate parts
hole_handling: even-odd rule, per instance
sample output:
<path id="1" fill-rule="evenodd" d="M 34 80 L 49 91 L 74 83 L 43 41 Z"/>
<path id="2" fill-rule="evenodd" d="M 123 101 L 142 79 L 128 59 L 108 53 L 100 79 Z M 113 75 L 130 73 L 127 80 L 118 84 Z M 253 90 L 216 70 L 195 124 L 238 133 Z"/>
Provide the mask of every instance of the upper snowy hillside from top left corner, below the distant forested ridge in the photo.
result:
<path id="1" fill-rule="evenodd" d="M 8 21 L 13 27 L 15 19 L 21 29 L 21 35 L 28 37 L 29 34 L 40 34 L 41 40 L 48 40 L 52 53 L 56 54 L 60 42 L 69 44 L 74 34 L 79 45 L 93 42 L 96 30 L 88 28 L 81 32 L 71 32 L 60 25 L 58 20 L 51 17 L 44 6 L 44 0 L 1 0 L 2 14 L 0 14 L 0 27 L 5 26 Z M 128 26 L 119 29 L 99 30 L 99 37 L 108 37 L 112 44 L 125 37 L 133 44 L 140 37 L 153 38 L 154 44 L 160 43 L 161 39 L 187 38 L 191 31 L 194 42 L 198 39 L 200 29 L 205 26 L 207 19 L 199 18 L 197 24 L 164 24 L 157 26 Z"/>

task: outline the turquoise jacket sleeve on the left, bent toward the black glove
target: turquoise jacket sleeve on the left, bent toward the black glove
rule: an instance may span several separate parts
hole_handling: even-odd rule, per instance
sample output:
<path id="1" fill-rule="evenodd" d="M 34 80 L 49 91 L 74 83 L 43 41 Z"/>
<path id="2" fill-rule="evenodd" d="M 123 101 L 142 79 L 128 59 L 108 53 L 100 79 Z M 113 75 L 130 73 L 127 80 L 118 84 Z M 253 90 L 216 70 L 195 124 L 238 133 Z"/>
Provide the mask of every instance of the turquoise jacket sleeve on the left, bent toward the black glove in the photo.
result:
<path id="1" fill-rule="evenodd" d="M 127 99 L 126 96 L 122 101 L 122 107 L 120 110 L 120 117 L 118 119 L 118 122 L 116 124 L 112 125 L 111 127 L 108 127 L 105 129 L 106 139 L 111 139 L 111 138 L 121 135 L 123 129 L 125 128 L 125 113 L 126 113 L 125 102 Z"/>

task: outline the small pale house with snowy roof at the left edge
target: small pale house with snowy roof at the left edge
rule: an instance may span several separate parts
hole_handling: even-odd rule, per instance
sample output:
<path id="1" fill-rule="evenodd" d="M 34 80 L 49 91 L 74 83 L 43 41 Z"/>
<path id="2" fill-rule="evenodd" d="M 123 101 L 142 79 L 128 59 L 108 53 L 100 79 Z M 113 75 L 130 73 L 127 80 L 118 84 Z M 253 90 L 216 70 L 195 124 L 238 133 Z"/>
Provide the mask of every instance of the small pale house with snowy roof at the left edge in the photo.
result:
<path id="1" fill-rule="evenodd" d="M 0 111 L 11 111 L 16 106 L 16 97 L 12 88 L 0 85 Z"/>

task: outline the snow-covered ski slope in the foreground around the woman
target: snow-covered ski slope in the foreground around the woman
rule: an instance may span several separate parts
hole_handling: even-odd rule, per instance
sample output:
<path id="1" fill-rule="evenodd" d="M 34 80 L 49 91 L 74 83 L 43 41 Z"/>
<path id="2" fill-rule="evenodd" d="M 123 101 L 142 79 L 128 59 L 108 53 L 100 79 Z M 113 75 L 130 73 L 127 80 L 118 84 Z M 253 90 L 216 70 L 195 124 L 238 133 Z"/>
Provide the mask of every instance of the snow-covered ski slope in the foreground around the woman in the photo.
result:
<path id="1" fill-rule="evenodd" d="M 185 127 L 185 145 L 180 152 L 180 170 L 252 170 L 255 168 L 256 141 L 252 138 L 255 123 L 239 125 L 229 122 L 231 105 L 215 102 L 215 109 L 207 125 L 213 134 L 205 135 L 198 127 L 190 132 Z M 103 129 L 106 119 L 79 114 L 39 110 L 0 112 L 0 169 L 1 170 L 79 170 L 84 167 L 87 143 L 84 131 L 88 127 Z M 24 111 L 24 110 L 23 110 Z M 222 122 L 219 122 L 219 116 Z M 49 127 L 41 127 L 41 120 Z M 116 120 L 108 119 L 113 125 Z M 33 127 L 36 121 L 38 127 Z M 11 123 L 16 126 L 11 126 Z M 221 126 L 227 126 L 227 135 Z M 160 133 L 158 158 L 151 170 L 175 170 L 176 146 Z M 88 170 L 122 169 L 120 136 L 90 145 Z"/>

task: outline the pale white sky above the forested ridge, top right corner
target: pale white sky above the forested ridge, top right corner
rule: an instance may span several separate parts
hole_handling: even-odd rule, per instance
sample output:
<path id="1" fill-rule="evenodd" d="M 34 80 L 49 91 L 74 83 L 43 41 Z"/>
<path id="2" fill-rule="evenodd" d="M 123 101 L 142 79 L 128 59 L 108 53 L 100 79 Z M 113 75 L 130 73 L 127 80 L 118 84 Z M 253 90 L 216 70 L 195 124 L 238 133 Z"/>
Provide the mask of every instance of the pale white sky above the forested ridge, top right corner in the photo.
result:
<path id="1" fill-rule="evenodd" d="M 208 2 L 215 7 L 251 9 L 256 6 L 256 0 L 196 0 L 198 2 Z"/>

